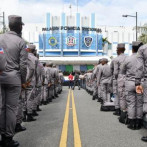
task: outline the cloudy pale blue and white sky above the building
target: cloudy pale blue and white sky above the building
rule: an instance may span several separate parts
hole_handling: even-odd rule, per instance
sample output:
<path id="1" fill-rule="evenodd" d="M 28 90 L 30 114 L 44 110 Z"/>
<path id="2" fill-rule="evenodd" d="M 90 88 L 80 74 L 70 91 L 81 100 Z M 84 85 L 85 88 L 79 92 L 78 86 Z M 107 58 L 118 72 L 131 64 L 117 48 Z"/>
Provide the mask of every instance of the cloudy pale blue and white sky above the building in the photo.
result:
<path id="1" fill-rule="evenodd" d="M 138 12 L 138 23 L 147 23 L 147 0 L 78 0 L 79 12 L 83 16 L 96 14 L 97 25 L 133 26 L 135 18 L 123 18 L 123 14 L 135 15 Z M 0 0 L 0 10 L 23 17 L 25 23 L 44 23 L 46 12 L 60 15 L 61 12 L 76 13 L 77 0 Z M 7 19 L 7 18 L 6 18 Z"/>

